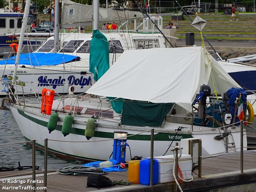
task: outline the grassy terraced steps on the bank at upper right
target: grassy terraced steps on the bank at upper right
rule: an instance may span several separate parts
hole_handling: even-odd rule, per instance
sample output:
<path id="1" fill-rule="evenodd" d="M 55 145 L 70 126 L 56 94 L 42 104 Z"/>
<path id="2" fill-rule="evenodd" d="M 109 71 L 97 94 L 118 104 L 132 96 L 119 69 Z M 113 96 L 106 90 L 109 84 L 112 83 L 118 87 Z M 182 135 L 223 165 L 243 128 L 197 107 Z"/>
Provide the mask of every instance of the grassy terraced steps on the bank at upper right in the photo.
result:
<path id="1" fill-rule="evenodd" d="M 199 15 L 205 20 L 205 15 Z M 207 24 L 204 27 L 203 34 L 211 41 L 232 41 L 232 42 L 256 42 L 256 15 L 236 14 L 238 21 L 230 21 L 231 15 L 212 15 L 206 16 Z M 195 15 L 190 15 L 194 20 Z M 195 39 L 200 39 L 199 31 L 191 26 L 191 21 L 187 16 L 185 20 L 172 20 L 173 24 L 178 26 L 177 37 L 185 40 L 187 32 L 194 32 Z M 169 18 L 163 19 L 163 26 L 167 26 Z"/>

